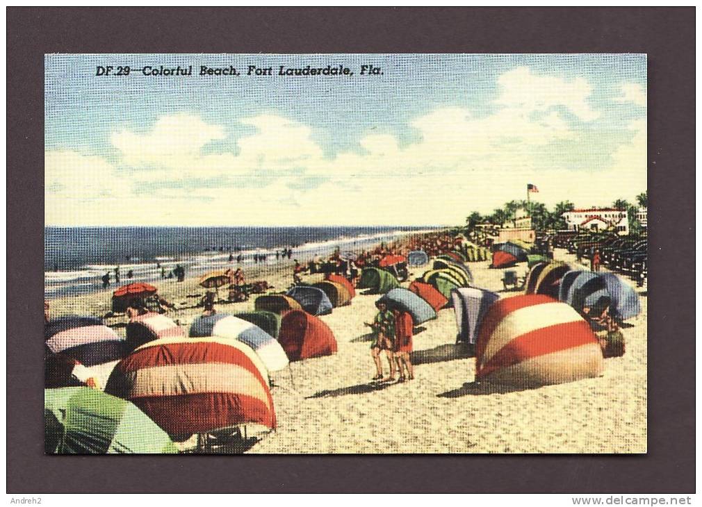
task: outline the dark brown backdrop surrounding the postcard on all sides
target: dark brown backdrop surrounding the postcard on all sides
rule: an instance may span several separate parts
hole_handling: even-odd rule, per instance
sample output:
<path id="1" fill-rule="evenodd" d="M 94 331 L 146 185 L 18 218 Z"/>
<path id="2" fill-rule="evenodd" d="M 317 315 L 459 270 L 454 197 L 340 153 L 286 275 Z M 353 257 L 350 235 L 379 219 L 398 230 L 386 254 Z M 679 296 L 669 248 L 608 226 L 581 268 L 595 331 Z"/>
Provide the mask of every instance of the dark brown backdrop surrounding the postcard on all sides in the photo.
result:
<path id="1" fill-rule="evenodd" d="M 694 18 L 694 8 L 8 8 L 8 492 L 694 492 Z M 648 53 L 649 453 L 44 456 L 44 53 L 147 52 Z"/>

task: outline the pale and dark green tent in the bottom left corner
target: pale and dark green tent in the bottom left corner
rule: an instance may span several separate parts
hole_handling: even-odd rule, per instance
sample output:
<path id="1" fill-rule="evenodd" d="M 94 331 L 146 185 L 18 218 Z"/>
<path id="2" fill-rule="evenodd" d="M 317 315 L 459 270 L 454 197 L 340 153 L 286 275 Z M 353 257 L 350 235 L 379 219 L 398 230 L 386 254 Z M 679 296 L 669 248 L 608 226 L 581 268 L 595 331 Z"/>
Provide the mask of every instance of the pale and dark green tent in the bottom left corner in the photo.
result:
<path id="1" fill-rule="evenodd" d="M 46 454 L 171 454 L 168 434 L 121 398 L 89 387 L 44 390 Z"/>

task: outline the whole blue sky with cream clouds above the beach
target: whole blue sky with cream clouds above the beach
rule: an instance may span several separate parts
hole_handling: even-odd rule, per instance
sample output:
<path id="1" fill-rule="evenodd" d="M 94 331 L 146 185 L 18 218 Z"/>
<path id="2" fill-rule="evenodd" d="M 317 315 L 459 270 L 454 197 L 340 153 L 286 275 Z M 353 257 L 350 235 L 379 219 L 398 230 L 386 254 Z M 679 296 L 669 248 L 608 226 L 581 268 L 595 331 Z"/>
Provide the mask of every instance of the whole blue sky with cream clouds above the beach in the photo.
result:
<path id="1" fill-rule="evenodd" d="M 646 119 L 645 55 L 46 55 L 45 224 L 456 225 L 529 183 L 606 206 L 647 189 Z"/>

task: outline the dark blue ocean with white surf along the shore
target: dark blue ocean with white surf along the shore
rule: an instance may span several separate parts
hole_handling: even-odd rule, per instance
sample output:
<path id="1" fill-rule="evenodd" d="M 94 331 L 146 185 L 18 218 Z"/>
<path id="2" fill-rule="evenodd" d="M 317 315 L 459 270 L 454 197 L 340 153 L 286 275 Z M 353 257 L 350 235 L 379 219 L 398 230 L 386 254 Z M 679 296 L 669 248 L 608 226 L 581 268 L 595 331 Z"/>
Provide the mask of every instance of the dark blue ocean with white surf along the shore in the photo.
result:
<path id="1" fill-rule="evenodd" d="M 102 278 L 119 266 L 121 283 L 161 279 L 176 264 L 187 276 L 231 266 L 230 255 L 253 265 L 277 262 L 275 252 L 293 249 L 301 262 L 336 248 L 359 251 L 381 241 L 436 230 L 437 227 L 46 227 L 44 295 L 47 298 L 102 289 Z M 282 262 L 282 259 L 281 261 Z M 131 278 L 127 278 L 132 271 Z"/>

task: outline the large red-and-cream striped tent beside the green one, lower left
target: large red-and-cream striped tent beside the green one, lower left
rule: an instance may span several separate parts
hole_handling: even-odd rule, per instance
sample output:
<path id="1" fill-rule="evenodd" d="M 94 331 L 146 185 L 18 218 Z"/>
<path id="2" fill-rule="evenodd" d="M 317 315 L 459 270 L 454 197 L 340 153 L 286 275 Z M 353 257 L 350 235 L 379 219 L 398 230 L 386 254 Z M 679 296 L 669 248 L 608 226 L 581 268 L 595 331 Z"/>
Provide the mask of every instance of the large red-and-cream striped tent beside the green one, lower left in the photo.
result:
<path id="1" fill-rule="evenodd" d="M 265 367 L 237 340 L 149 342 L 119 362 L 105 391 L 130 400 L 178 440 L 240 424 L 276 426 Z"/>

